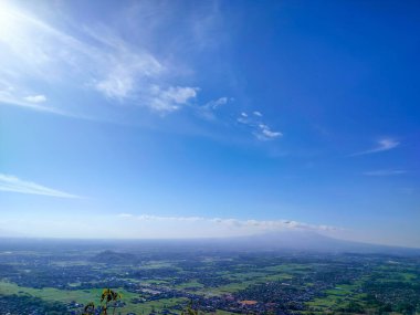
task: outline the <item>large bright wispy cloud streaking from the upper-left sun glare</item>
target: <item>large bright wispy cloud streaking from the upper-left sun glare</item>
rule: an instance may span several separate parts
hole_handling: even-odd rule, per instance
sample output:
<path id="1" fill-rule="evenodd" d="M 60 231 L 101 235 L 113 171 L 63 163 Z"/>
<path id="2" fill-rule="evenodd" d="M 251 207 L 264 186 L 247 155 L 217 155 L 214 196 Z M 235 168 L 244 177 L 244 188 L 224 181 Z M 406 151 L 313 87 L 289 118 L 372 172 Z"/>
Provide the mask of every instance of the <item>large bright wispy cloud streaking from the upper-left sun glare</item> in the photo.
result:
<path id="1" fill-rule="evenodd" d="M 78 88 L 91 87 L 108 99 L 129 101 L 155 112 L 180 109 L 199 92 L 176 84 L 176 66 L 169 61 L 162 62 L 141 43 L 128 43 L 107 27 L 72 23 L 76 32 L 69 32 L 17 7 L 0 9 L 7 25 L 7 31 L 0 30 L 0 43 L 6 48 L 0 52 L 0 74 L 20 90 L 27 77 L 71 86 L 78 82 Z M 43 102 L 41 95 L 34 96 L 23 101 Z M 0 101 L 18 105 L 13 99 Z"/>

